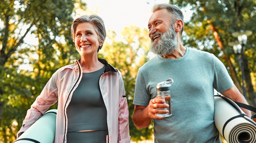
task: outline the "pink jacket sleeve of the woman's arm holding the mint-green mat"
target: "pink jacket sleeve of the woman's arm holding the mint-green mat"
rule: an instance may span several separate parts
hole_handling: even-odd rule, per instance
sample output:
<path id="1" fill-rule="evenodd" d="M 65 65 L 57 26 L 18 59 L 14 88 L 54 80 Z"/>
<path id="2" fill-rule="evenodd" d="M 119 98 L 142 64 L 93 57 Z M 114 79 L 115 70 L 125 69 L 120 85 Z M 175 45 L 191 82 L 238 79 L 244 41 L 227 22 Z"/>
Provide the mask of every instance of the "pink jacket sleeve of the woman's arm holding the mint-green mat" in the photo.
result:
<path id="1" fill-rule="evenodd" d="M 58 100 L 57 94 L 57 81 L 59 77 L 59 70 L 57 70 L 50 80 L 47 82 L 46 86 L 43 88 L 41 94 L 37 96 L 31 108 L 27 111 L 27 115 L 23 120 L 22 127 L 17 133 L 25 132 L 35 121 L 37 121 L 50 106 L 55 104 Z"/>

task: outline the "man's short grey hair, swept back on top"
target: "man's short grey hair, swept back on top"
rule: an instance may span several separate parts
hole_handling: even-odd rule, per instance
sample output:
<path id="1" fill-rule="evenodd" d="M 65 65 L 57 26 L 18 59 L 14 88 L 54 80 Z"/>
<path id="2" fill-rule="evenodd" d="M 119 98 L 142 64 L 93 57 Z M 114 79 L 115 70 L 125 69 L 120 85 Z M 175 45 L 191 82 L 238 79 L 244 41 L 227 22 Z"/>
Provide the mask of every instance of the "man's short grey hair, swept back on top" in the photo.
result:
<path id="1" fill-rule="evenodd" d="M 172 23 L 174 23 L 178 19 L 181 19 L 182 21 L 184 19 L 184 15 L 181 9 L 171 4 L 155 4 L 152 8 L 152 12 L 154 13 L 161 9 L 166 9 L 170 13 L 170 20 Z M 183 27 L 181 30 L 181 34 L 182 32 L 183 32 Z"/>

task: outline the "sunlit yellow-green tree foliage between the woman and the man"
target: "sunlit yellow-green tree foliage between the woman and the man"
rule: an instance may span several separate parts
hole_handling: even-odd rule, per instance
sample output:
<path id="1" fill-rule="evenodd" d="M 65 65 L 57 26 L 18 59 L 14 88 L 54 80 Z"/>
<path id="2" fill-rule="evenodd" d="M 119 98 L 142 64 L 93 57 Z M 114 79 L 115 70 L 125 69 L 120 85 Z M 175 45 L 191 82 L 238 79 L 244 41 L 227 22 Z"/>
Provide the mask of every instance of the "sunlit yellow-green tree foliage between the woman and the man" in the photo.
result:
<path id="1" fill-rule="evenodd" d="M 147 140 L 152 137 L 153 123 L 144 129 L 134 126 L 132 115 L 134 111 L 133 97 L 135 80 L 139 67 L 149 60 L 150 39 L 148 30 L 136 26 L 125 27 L 121 32 L 122 41 L 116 41 L 116 33 L 109 31 L 106 40 L 100 50 L 100 57 L 105 58 L 112 66 L 121 71 L 125 94 L 129 108 L 129 128 L 131 139 L 134 141 Z"/>

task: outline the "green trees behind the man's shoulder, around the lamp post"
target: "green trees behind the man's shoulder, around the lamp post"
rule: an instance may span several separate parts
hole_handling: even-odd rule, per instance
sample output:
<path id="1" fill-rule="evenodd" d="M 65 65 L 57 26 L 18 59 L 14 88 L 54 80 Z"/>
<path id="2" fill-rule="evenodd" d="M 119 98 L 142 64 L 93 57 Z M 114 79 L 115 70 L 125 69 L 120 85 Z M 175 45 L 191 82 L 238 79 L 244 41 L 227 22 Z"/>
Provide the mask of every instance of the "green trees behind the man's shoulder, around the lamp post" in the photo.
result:
<path id="1" fill-rule="evenodd" d="M 255 0 L 175 0 L 170 1 L 180 8 L 189 7 L 193 12 L 191 20 L 185 22 L 183 38 L 185 46 L 208 51 L 219 57 L 227 67 L 234 84 L 243 93 L 241 87 L 241 70 L 230 42 L 237 40 L 233 32 L 251 30 L 255 33 L 256 1 Z M 247 99 L 256 106 L 255 99 L 255 41 L 256 36 L 248 37 L 245 50 L 245 81 Z M 254 84 L 252 84 L 254 83 Z"/>

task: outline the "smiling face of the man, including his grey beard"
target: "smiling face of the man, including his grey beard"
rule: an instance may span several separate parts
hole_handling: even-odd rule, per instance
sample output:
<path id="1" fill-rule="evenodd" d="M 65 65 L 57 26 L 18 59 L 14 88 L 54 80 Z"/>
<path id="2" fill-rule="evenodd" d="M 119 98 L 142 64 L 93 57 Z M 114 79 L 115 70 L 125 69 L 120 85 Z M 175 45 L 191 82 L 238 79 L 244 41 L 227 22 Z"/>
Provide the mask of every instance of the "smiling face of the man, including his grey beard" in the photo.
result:
<path id="1" fill-rule="evenodd" d="M 153 13 L 149 20 L 150 50 L 157 55 L 170 55 L 178 46 L 177 33 L 166 9 Z"/>

